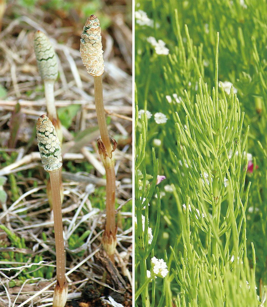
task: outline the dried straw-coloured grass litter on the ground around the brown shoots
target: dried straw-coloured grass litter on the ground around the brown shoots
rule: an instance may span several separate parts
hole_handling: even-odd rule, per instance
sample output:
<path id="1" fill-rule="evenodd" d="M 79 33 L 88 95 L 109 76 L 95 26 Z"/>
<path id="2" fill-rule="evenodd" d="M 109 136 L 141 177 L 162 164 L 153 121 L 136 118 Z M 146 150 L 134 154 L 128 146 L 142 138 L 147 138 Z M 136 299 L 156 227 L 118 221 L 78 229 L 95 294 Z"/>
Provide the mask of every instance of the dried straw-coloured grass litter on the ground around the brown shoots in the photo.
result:
<path id="1" fill-rule="evenodd" d="M 20 12 L 21 15 L 15 15 L 18 17 L 14 17 L 15 10 Z M 77 134 L 79 131 L 96 126 L 93 80 L 85 71 L 79 52 L 79 35 L 82 32 L 84 19 L 79 31 L 75 30 L 78 32 L 76 35 L 76 32 L 72 32 L 74 30 L 72 27 L 64 27 L 64 23 L 60 18 L 48 16 L 49 14 L 51 12 L 44 11 L 41 7 L 37 7 L 34 12 L 29 12 L 23 7 L 16 6 L 13 8 L 9 6 L 2 19 L 0 36 L 0 81 L 1 85 L 6 89 L 6 97 L 0 101 L 1 148 L 6 148 L 7 140 L 10 137 L 9 120 L 17 102 L 21 104 L 21 112 L 24 115 L 24 119 L 20 123 L 17 145 L 14 148 L 14 151 L 17 152 L 17 161 L 15 164 L 10 163 L 9 168 L 3 168 L 2 165 L 5 161 L 3 161 L 3 156 L 1 158 L 0 174 L 6 177 L 14 176 L 13 178 L 17 183 L 17 196 L 11 195 L 9 192 L 11 191 L 10 181 L 7 181 L 4 189 L 8 192 L 8 198 L 6 204 L 2 204 L 1 207 L 0 223 L 20 239 L 25 239 L 26 246 L 29 248 L 25 251 L 27 254 L 24 254 L 24 259 L 28 260 L 23 265 L 31 265 L 37 255 L 42 255 L 45 262 L 40 263 L 40 267 L 54 266 L 55 261 L 51 261 L 50 258 L 54 248 L 54 235 L 51 214 L 44 192 L 45 172 L 40 167 L 41 161 L 40 154 L 37 152 L 37 141 L 31 138 L 37 118 L 46 113 L 43 85 L 37 71 L 37 63 L 33 52 L 33 35 L 38 29 L 47 33 L 59 60 L 60 74 L 55 84 L 56 107 L 66 107 L 73 104 L 81 105 L 72 125 L 68 130 L 64 131 L 65 157 L 68 157 L 68 163 L 75 165 L 81 161 L 86 161 L 88 158 L 92 159 L 90 160 L 91 162 L 98 161 L 95 152 L 89 152 L 91 156 L 89 155 L 87 158 L 84 155 L 88 153 L 86 146 L 90 144 L 95 146 L 94 139 L 98 135 L 95 135 L 92 142 L 89 140 L 88 144 L 86 140 L 82 143 L 77 143 L 70 133 Z M 123 19 L 121 14 L 114 14 L 112 17 L 114 35 L 118 37 L 117 31 L 120 31 L 120 27 L 117 24 L 118 19 L 121 17 Z M 44 21 L 50 19 L 53 20 L 50 24 Z M 125 37 L 129 34 L 126 31 L 129 28 L 123 23 L 121 29 L 121 37 L 124 38 L 128 46 L 131 38 L 126 39 Z M 116 50 L 114 49 L 112 41 L 116 40 L 116 37 L 111 38 L 107 32 L 102 33 L 102 35 L 104 45 L 108 47 L 104 49 L 106 50 L 104 52 L 106 66 L 103 74 L 103 95 L 105 109 L 111 117 L 111 131 L 113 135 L 119 136 L 120 145 L 115 158 L 118 162 L 117 180 L 121 183 L 117 192 L 118 204 L 122 206 L 131 197 L 132 122 L 130 119 L 132 118 L 132 81 L 131 76 L 127 73 L 130 68 L 122 70 L 120 67 L 129 67 L 129 60 L 127 59 L 130 56 L 130 52 L 127 53 L 124 50 L 124 54 L 121 57 L 114 58 L 114 54 L 117 55 L 118 49 L 117 47 Z M 123 40 L 117 41 L 117 45 L 121 44 L 123 44 Z M 129 50 L 128 47 L 126 50 Z M 73 148 L 74 150 L 72 150 Z M 1 171 L 4 171 L 4 173 L 1 173 Z M 19 176 L 19 171 L 23 174 L 23 177 Z M 90 177 L 88 177 L 87 173 L 72 174 L 68 170 L 65 171 L 65 174 L 63 173 L 63 178 L 64 175 L 65 178 L 68 178 L 64 180 L 65 198 L 62 208 L 65 235 L 70 236 L 73 229 L 79 224 L 91 231 L 87 242 L 81 248 L 70 251 L 68 245 L 66 246 L 68 255 L 67 276 L 71 282 L 69 295 L 73 296 L 80 295 L 88 280 L 93 279 L 99 282 L 102 278 L 101 274 L 95 270 L 96 263 L 93 254 L 98 251 L 101 236 L 99 229 L 103 226 L 105 214 L 100 212 L 98 208 L 92 208 L 90 201 L 92 197 L 90 188 L 97 189 L 99 184 L 103 185 L 99 174 L 97 170 L 95 173 L 89 174 Z M 98 177 L 95 177 L 95 175 Z M 88 185 L 90 183 L 93 186 Z M 86 207 L 84 207 L 85 205 Z M 88 208 L 87 211 L 84 211 L 84 208 Z M 79 210 L 79 214 L 74 218 L 77 210 Z M 131 212 L 123 213 L 123 218 L 131 218 L 131 216 Z M 10 245 L 5 232 L 0 230 L 0 233 L 0 247 L 3 248 L 4 244 L 6 244 L 7 247 L 12 248 L 12 244 Z M 45 233 L 46 241 L 43 240 L 42 233 Z M 122 265 L 123 259 L 127 259 L 125 256 L 127 247 L 130 248 L 132 242 L 131 229 L 125 232 L 121 231 L 118 235 L 118 241 L 121 248 L 118 246 L 120 255 L 117 257 Z M 29 253 L 29 250 L 31 253 Z M 82 250 L 85 251 L 83 256 L 78 257 L 77 253 Z M 21 253 L 22 251 L 15 249 L 14 252 L 18 254 L 18 252 Z M 7 263 L 8 266 L 13 266 L 11 260 L 10 263 Z M 101 262 L 98 262 L 97 265 L 99 267 L 103 266 Z M 34 295 L 37 296 L 32 298 L 33 306 L 51 302 L 53 293 L 51 283 L 54 279 L 36 279 L 32 280 L 31 283 L 25 282 L 23 285 L 16 277 L 16 274 L 21 274 L 23 270 L 22 264 L 16 264 L 16 266 L 19 269 L 15 270 L 13 275 L 10 275 L 8 270 L 1 270 L 3 274 L 11 278 L 12 282 L 15 282 L 15 287 L 8 288 L 5 278 L 2 275 L 0 276 L 5 285 L 5 288 L 0 288 L 0 306 L 1 304 L 8 305 L 9 299 L 12 303 L 16 300 L 15 305 L 18 306 Z M 75 268 L 75 270 L 71 271 L 70 268 Z M 127 269 L 131 272 L 131 257 L 130 260 L 126 260 L 126 266 L 123 270 Z M 122 272 L 120 273 L 122 274 Z M 107 282 L 109 282 L 109 279 Z M 129 281 L 127 284 L 129 285 Z M 109 286 L 112 287 L 111 284 Z M 28 304 L 31 303 L 29 302 L 26 305 Z"/>

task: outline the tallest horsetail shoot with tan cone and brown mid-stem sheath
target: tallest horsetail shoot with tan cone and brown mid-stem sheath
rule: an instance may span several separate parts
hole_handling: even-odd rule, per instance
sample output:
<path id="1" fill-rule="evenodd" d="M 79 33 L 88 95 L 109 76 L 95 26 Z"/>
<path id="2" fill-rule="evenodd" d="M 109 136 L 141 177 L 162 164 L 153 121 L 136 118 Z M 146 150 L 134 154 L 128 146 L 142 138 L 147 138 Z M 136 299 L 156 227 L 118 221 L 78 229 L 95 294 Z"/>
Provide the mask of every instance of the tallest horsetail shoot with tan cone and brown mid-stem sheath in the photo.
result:
<path id="1" fill-rule="evenodd" d="M 83 27 L 80 45 L 81 58 L 87 72 L 94 77 L 95 110 L 100 130 L 97 141 L 99 155 L 106 170 L 106 226 L 102 236 L 103 247 L 114 263 L 114 251 L 117 245 L 117 227 L 115 226 L 115 169 L 112 152 L 116 142 L 110 137 L 106 125 L 103 105 L 102 74 L 104 72 L 103 50 L 101 42 L 100 22 L 95 15 L 91 15 Z"/>

